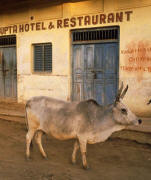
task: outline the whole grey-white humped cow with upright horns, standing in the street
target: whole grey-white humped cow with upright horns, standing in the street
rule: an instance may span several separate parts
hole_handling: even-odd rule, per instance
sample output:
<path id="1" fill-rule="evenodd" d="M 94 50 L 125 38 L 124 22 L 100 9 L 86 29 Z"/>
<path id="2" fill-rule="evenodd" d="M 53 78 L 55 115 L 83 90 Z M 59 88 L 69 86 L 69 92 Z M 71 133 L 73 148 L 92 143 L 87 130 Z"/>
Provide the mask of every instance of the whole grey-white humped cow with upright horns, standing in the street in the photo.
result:
<path id="1" fill-rule="evenodd" d="M 128 85 L 123 90 L 122 83 L 115 102 L 105 107 L 93 99 L 66 102 L 46 96 L 32 97 L 26 103 L 26 157 L 30 158 L 30 145 L 35 137 L 42 156 L 47 158 L 41 142 L 46 133 L 59 140 L 75 139 L 72 163 L 76 163 L 80 148 L 83 168 L 88 169 L 87 143 L 104 142 L 113 132 L 142 122 L 122 101 L 127 90 Z"/>

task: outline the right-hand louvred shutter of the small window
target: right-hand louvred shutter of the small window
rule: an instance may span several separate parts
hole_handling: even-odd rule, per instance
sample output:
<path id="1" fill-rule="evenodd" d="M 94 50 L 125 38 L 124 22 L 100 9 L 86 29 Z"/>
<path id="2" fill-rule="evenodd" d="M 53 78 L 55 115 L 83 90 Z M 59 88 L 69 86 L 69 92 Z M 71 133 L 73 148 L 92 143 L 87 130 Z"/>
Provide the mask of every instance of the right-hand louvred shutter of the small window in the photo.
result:
<path id="1" fill-rule="evenodd" d="M 44 45 L 44 71 L 52 71 L 52 45 Z"/>

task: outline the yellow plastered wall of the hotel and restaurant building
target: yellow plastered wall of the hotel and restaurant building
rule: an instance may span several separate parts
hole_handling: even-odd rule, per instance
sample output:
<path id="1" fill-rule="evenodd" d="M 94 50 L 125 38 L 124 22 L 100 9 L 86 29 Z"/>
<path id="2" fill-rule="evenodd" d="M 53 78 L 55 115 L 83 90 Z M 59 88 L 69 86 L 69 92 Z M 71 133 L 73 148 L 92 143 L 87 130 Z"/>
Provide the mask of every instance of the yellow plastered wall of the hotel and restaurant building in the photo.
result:
<path id="1" fill-rule="evenodd" d="M 130 20 L 125 12 L 132 11 Z M 123 12 L 123 22 L 76 27 L 57 28 L 57 21 L 71 17 L 93 16 Z M 120 26 L 120 82 L 129 84 L 125 102 L 137 114 L 151 116 L 146 103 L 151 98 L 151 2 L 149 0 L 91 0 L 62 5 L 47 6 L 40 9 L 30 8 L 23 12 L 0 15 L 0 27 L 8 27 L 33 22 L 44 22 L 48 27 L 52 22 L 55 26 L 47 30 L 30 30 L 17 32 L 17 73 L 18 101 L 25 101 L 35 95 L 47 95 L 68 100 L 71 94 L 71 43 L 70 30 L 74 28 Z M 34 19 L 31 20 L 30 17 Z M 7 34 L 10 34 L 7 31 Z M 53 72 L 36 74 L 32 71 L 32 44 L 52 42 Z M 139 51 L 138 49 L 145 49 Z M 128 51 L 133 50 L 133 53 Z M 134 62 L 145 57 L 144 61 Z M 135 69 L 129 69 L 136 67 Z M 142 67 L 141 70 L 139 67 Z M 150 68 L 149 68 L 150 67 Z"/>

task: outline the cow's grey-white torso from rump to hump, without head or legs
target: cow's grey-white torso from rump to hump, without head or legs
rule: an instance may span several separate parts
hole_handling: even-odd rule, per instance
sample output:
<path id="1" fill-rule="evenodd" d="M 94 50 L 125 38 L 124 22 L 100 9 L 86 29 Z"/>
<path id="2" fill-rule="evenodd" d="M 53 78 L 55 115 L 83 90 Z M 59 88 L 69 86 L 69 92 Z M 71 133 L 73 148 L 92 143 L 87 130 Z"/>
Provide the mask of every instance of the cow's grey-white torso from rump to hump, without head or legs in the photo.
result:
<path id="1" fill-rule="evenodd" d="M 27 102 L 29 124 L 35 124 L 58 139 L 95 133 L 104 108 L 94 100 L 66 102 L 45 96 Z M 99 112 L 99 115 L 98 115 Z"/>

